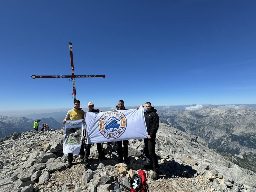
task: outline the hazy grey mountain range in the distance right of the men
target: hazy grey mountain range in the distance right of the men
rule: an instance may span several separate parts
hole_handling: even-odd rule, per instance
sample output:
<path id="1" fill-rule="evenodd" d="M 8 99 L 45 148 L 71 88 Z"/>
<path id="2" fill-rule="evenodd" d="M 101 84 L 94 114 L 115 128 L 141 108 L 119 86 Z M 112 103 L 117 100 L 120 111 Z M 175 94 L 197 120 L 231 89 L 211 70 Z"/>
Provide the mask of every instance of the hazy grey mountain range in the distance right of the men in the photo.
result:
<path id="1" fill-rule="evenodd" d="M 233 155 L 256 155 L 254 108 L 209 107 L 197 112 L 178 111 L 171 117 L 161 117 L 181 131 L 202 137 L 214 149 Z"/>

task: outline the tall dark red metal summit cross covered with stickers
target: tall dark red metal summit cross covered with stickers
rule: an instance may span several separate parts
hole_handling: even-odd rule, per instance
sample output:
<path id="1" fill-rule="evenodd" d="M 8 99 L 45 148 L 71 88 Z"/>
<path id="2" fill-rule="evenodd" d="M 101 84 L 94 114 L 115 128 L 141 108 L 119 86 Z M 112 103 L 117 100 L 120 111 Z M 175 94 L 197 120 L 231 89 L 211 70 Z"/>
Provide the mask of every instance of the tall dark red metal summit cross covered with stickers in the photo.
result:
<path id="1" fill-rule="evenodd" d="M 76 100 L 76 84 L 75 84 L 75 78 L 86 78 L 86 77 L 103 77 L 105 78 L 105 75 L 75 75 L 74 73 L 74 62 L 73 62 L 73 51 L 72 51 L 72 43 L 69 43 L 69 51 L 70 51 L 70 61 L 71 61 L 71 73 L 72 75 L 31 75 L 32 79 L 36 78 L 71 78 L 72 79 L 72 85 L 73 85 L 73 94 L 74 100 Z"/>

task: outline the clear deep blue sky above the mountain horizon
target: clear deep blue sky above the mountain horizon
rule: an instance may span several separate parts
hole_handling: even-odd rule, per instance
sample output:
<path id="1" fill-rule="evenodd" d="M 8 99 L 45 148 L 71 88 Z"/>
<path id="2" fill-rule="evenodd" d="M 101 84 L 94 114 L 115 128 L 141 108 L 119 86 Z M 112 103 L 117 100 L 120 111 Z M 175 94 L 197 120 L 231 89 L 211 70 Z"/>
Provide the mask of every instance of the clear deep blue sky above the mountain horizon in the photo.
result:
<path id="1" fill-rule="evenodd" d="M 256 1 L 0 1 L 0 110 L 253 104 Z"/>

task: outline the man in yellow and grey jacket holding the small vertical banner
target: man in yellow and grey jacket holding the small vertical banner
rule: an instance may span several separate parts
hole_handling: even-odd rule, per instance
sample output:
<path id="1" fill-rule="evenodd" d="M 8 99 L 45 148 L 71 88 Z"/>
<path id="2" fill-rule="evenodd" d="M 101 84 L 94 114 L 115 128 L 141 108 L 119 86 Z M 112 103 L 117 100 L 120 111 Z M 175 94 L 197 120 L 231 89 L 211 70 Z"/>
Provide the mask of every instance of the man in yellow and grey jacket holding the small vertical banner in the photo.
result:
<path id="1" fill-rule="evenodd" d="M 67 122 L 67 120 L 79 120 L 79 119 L 83 119 L 83 122 L 85 123 L 84 120 L 84 111 L 82 110 L 82 108 L 80 107 L 80 101 L 79 100 L 75 100 L 74 102 L 74 108 L 69 110 L 65 119 L 62 121 L 64 124 Z M 83 135 L 84 132 L 83 132 Z M 84 136 L 85 138 L 85 136 Z M 81 145 L 80 148 L 80 159 L 81 162 L 84 162 L 84 145 Z M 68 154 L 68 164 L 66 165 L 67 168 L 70 168 L 72 166 L 72 161 L 73 161 L 73 153 L 69 153 Z"/>

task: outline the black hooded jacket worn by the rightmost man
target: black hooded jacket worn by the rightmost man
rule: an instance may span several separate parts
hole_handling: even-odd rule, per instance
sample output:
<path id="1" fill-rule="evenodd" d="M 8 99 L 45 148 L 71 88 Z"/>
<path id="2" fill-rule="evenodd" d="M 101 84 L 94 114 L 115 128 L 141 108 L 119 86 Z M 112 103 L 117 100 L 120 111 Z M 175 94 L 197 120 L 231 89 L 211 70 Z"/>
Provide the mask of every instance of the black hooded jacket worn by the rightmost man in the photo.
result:
<path id="1" fill-rule="evenodd" d="M 156 132 L 159 127 L 159 116 L 156 113 L 156 109 L 152 107 L 151 110 L 144 112 L 144 115 L 148 134 L 150 137 L 156 137 Z"/>

